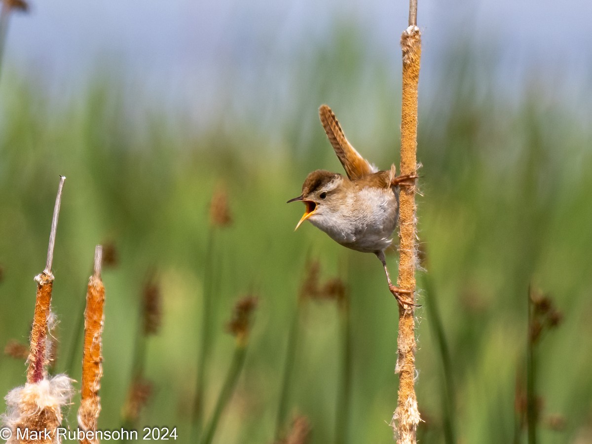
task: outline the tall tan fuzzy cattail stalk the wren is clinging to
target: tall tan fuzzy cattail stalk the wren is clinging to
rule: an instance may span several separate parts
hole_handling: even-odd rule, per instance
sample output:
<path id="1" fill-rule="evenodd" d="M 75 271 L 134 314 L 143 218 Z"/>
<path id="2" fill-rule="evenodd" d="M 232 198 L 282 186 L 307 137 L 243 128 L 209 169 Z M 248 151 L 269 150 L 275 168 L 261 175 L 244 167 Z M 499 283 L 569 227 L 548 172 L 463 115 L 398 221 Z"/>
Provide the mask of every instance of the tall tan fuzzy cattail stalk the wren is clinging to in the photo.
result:
<path id="1" fill-rule="evenodd" d="M 422 43 L 416 26 L 417 1 L 411 0 L 409 27 L 401 36 L 403 49 L 403 96 L 401 106 L 401 175 L 416 175 L 417 170 L 417 85 Z M 415 292 L 417 262 L 416 189 L 401 184 L 399 226 L 400 262 L 397 285 Z M 397 443 L 416 442 L 417 424 L 420 422 L 414 388 L 415 377 L 415 323 L 414 305 L 399 306 L 399 333 L 397 341 L 397 368 L 399 391 L 397 410 L 391 426 Z"/>

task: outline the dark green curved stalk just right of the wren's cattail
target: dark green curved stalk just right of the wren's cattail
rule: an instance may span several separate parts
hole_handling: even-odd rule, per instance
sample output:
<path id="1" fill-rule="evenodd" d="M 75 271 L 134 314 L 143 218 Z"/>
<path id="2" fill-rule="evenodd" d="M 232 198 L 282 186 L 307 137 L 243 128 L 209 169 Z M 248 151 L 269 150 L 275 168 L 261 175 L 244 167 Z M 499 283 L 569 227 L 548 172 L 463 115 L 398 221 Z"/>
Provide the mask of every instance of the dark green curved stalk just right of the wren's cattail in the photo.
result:
<path id="1" fill-rule="evenodd" d="M 456 401 L 454 380 L 452 377 L 452 361 L 450 358 L 448 342 L 446 342 L 446 335 L 444 333 L 444 327 L 442 324 L 442 316 L 440 316 L 438 298 L 434 290 L 432 279 L 430 279 L 430 276 L 427 273 L 423 274 L 423 287 L 426 294 L 426 300 L 429 301 L 429 304 L 426 304 L 426 310 L 428 312 L 427 321 L 429 323 L 430 330 L 432 330 L 432 334 L 436 337 L 438 352 L 440 354 L 440 359 L 442 360 L 442 375 L 444 384 L 441 397 L 444 440 L 446 444 L 455 444 L 456 424 L 454 421 L 454 415 L 456 411 Z"/>

